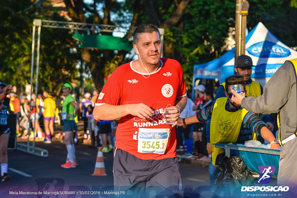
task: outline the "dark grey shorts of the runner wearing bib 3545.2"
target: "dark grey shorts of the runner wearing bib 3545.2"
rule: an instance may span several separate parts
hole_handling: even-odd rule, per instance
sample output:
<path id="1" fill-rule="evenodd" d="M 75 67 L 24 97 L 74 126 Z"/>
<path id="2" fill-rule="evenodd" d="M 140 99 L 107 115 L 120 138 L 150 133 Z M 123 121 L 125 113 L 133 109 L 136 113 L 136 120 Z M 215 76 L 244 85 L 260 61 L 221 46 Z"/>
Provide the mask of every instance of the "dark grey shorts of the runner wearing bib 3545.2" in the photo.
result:
<path id="1" fill-rule="evenodd" d="M 173 191 L 178 191 L 178 159 L 142 160 L 115 148 L 113 177 L 115 191 L 130 191 L 133 193 L 131 197 L 148 196 L 150 193 L 170 197 Z"/>

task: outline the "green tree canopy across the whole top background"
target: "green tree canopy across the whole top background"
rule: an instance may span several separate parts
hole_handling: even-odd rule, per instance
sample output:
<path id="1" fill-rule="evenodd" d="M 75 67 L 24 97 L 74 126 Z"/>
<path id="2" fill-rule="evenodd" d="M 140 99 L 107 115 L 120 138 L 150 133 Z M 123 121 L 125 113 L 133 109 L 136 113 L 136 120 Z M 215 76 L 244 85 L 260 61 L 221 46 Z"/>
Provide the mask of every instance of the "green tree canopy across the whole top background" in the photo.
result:
<path id="1" fill-rule="evenodd" d="M 1 82 L 24 85 L 30 80 L 32 22 L 34 18 L 135 27 L 152 23 L 165 29 L 166 58 L 179 61 L 187 88 L 192 85 L 193 65 L 221 56 L 228 48 L 226 37 L 234 34 L 235 0 L 64 0 L 65 8 L 52 7 L 50 0 L 9 0 L 0 7 Z M 297 46 L 296 0 L 249 0 L 247 28 L 262 22 L 290 47 Z M 61 14 L 62 13 L 62 14 Z M 68 18 L 69 19 L 69 18 Z M 133 31 L 133 29 L 130 29 Z M 89 83 L 101 89 L 104 77 L 133 58 L 134 52 L 78 48 L 74 31 L 45 28 L 41 31 L 40 88 L 59 92 L 63 82 L 78 83 L 77 63 L 84 63 Z M 98 34 L 79 31 L 80 34 Z M 100 34 L 111 35 L 101 32 Z M 132 43 L 132 34 L 125 37 Z M 83 74 L 82 74 L 83 75 Z M 89 86 L 90 87 L 90 86 Z"/>

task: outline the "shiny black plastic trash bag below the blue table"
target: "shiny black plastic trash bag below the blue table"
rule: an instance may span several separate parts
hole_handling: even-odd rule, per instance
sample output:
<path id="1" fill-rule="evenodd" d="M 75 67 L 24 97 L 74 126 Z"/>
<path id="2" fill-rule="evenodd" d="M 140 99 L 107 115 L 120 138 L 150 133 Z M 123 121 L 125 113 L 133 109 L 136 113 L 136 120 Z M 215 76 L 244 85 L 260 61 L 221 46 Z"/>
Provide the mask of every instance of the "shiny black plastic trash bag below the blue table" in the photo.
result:
<path id="1" fill-rule="evenodd" d="M 231 156 L 230 158 L 225 155 L 220 155 L 219 170 L 221 173 L 216 180 L 216 185 L 248 185 L 255 180 L 239 155 Z"/>

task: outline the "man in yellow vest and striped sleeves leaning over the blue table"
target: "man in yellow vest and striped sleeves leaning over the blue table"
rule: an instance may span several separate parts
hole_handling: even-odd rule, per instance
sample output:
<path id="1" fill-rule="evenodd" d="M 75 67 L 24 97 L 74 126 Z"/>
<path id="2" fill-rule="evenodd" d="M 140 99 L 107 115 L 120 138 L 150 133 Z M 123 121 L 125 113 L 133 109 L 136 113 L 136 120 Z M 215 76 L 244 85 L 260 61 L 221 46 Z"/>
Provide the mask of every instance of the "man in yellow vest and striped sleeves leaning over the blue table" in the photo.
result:
<path id="1" fill-rule="evenodd" d="M 221 148 L 216 148 L 215 143 L 244 143 L 251 140 L 252 132 L 261 134 L 265 140 L 272 142 L 274 135 L 266 127 L 266 124 L 260 120 L 259 115 L 248 112 L 240 105 L 234 104 L 230 99 L 232 97 L 230 85 L 241 84 L 241 90 L 245 92 L 244 78 L 242 76 L 229 76 L 225 80 L 225 96 L 217 99 L 215 104 L 200 113 L 188 118 L 179 118 L 178 126 L 206 121 L 211 119 L 210 143 L 208 142 L 208 153 L 212 153 L 211 163 L 208 167 L 211 186 L 214 185 L 219 175 L 218 159 L 219 154 L 223 153 Z M 278 149 L 279 144 L 271 144 L 271 149 Z"/>

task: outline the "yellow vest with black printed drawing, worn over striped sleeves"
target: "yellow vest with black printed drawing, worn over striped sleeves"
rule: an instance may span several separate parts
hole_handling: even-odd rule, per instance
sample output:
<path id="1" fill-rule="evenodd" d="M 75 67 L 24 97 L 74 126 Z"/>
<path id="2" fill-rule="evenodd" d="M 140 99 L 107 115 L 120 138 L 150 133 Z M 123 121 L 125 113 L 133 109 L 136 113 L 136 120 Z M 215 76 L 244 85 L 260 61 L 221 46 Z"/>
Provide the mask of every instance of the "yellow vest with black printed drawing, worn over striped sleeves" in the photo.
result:
<path id="1" fill-rule="evenodd" d="M 248 113 L 245 109 L 229 112 L 225 110 L 226 102 L 227 97 L 218 98 L 211 114 L 210 147 L 212 151 L 212 164 L 214 165 L 218 154 L 223 153 L 223 149 L 216 148 L 213 144 L 235 143 L 238 138 L 243 118 Z"/>

